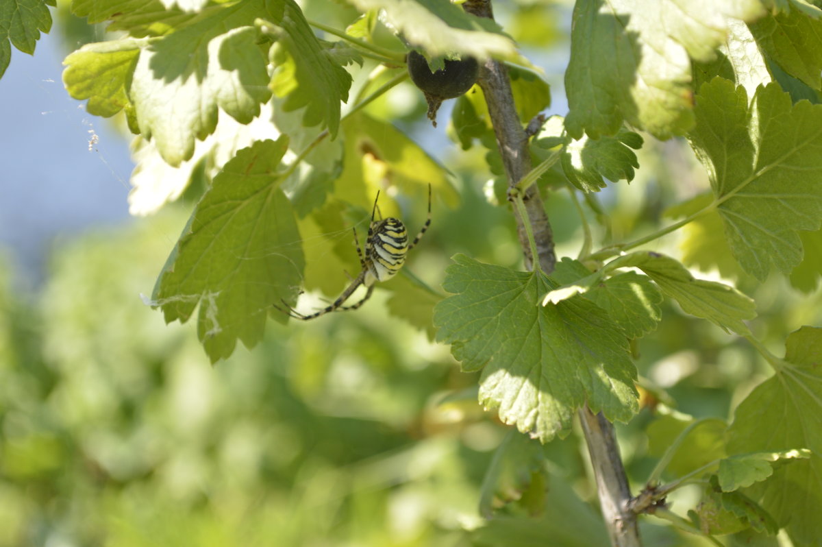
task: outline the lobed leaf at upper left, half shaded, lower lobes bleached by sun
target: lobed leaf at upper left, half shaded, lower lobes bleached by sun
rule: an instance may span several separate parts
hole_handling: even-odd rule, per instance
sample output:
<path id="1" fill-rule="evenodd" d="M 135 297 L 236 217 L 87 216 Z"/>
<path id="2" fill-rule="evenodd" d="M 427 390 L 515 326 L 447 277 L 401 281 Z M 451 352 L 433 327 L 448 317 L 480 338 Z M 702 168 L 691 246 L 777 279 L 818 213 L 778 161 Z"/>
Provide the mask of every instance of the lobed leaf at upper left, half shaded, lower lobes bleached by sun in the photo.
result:
<path id="1" fill-rule="evenodd" d="M 212 13 L 143 49 L 128 90 L 141 134 L 156 139 L 169 165 L 191 158 L 195 139 L 214 132 L 218 107 L 249 123 L 270 97 L 256 30 L 234 28 L 242 14 L 231 8 Z"/>

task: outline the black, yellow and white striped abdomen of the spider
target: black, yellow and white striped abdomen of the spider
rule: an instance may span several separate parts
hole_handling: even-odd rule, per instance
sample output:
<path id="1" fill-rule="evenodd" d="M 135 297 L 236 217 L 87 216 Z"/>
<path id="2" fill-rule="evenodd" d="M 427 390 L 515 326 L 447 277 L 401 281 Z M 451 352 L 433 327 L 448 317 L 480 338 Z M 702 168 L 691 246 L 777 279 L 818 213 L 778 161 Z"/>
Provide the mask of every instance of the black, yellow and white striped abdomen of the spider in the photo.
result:
<path id="1" fill-rule="evenodd" d="M 405 263 L 409 238 L 399 219 L 387 218 L 372 222 L 365 242 L 366 276 L 364 284 L 390 279 Z"/>

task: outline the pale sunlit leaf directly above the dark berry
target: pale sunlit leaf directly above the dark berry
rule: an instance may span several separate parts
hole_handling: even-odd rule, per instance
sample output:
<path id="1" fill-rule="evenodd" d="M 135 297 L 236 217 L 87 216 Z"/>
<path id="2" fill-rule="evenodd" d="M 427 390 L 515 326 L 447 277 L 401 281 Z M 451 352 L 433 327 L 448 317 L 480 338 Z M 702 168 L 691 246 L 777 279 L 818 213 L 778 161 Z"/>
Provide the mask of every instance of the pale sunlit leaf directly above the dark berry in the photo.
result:
<path id="1" fill-rule="evenodd" d="M 464 53 L 475 58 L 524 61 L 514 40 L 492 19 L 438 0 L 352 0 L 361 12 L 385 10 L 386 24 L 431 57 Z M 527 63 L 527 61 L 524 61 Z"/>

